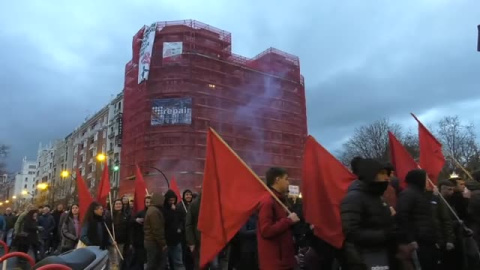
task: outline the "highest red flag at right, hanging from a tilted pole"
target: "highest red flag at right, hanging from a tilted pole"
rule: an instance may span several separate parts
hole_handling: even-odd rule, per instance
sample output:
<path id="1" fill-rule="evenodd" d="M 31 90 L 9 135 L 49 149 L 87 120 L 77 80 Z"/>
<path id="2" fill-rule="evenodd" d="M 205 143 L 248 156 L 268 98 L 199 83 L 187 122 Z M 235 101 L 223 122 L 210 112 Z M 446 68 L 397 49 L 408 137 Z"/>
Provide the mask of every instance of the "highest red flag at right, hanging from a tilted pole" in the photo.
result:
<path id="1" fill-rule="evenodd" d="M 442 144 L 428 131 L 428 129 L 412 113 L 418 122 L 418 137 L 420 144 L 420 167 L 427 171 L 428 177 L 434 184 L 438 181 L 438 175 L 445 165 L 445 157 L 442 153 Z"/>

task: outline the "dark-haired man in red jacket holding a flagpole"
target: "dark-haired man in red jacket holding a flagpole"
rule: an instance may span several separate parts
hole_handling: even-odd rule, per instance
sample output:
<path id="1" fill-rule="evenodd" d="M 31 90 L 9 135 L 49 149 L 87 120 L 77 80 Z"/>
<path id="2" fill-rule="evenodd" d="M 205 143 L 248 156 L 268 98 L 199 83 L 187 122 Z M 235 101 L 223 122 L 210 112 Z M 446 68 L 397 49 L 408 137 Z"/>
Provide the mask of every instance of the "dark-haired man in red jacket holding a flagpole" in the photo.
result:
<path id="1" fill-rule="evenodd" d="M 288 174 L 283 168 L 270 168 L 266 173 L 267 186 L 285 204 L 288 193 Z M 259 265 L 262 270 L 295 268 L 295 245 L 292 226 L 299 222 L 297 214 L 287 211 L 271 194 L 259 205 L 257 241 Z"/>

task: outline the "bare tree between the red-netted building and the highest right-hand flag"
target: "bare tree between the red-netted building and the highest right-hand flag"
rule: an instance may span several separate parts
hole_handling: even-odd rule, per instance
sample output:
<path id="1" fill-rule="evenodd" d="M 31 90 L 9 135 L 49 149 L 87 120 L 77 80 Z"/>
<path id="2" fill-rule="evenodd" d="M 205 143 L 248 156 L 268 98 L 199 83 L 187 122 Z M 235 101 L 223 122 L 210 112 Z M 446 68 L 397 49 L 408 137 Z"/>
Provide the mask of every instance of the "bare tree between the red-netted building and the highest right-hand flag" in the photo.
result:
<path id="1" fill-rule="evenodd" d="M 355 156 L 382 161 L 390 159 L 388 132 L 391 131 L 405 145 L 407 150 L 418 156 L 418 138 L 412 132 L 405 133 L 398 124 L 388 119 L 380 119 L 355 129 L 352 137 L 343 145 L 340 160 L 349 164 Z"/>

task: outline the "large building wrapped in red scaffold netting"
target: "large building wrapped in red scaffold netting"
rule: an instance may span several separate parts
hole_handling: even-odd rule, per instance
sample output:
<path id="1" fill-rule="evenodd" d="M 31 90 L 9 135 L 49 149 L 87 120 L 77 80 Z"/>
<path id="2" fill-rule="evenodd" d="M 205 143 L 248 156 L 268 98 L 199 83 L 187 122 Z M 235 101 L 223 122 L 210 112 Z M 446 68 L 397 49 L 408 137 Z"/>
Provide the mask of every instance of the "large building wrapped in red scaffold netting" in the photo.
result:
<path id="1" fill-rule="evenodd" d="M 132 47 L 120 194 L 133 193 L 135 164 L 149 192 L 166 189 L 154 168 L 180 189 L 198 190 L 209 127 L 260 177 L 280 166 L 293 183 L 300 179 L 307 119 L 298 57 L 273 48 L 253 59 L 235 55 L 230 33 L 192 20 L 144 27 Z"/>

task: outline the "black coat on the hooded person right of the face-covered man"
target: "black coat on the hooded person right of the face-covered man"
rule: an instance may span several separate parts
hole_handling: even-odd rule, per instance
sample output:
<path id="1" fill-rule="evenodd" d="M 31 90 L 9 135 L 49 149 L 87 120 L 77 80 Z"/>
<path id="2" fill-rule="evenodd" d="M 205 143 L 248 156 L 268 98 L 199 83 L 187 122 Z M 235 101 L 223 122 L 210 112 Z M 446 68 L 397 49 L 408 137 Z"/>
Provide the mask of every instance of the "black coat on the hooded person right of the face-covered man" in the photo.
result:
<path id="1" fill-rule="evenodd" d="M 434 209 L 424 188 L 409 185 L 397 201 L 397 221 L 403 243 L 433 245 L 438 228 L 433 220 Z"/>

